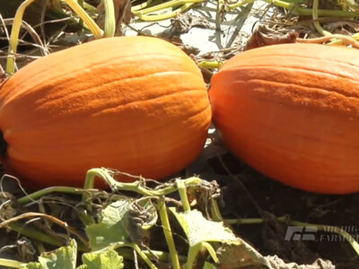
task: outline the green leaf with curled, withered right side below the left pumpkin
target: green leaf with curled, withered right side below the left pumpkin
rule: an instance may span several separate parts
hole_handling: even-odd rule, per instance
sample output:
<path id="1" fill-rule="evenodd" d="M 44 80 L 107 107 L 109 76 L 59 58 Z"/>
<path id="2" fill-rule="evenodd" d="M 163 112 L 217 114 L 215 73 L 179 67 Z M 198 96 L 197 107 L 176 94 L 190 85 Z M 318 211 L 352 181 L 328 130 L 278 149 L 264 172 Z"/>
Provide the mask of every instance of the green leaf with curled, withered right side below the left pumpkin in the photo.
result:
<path id="1" fill-rule="evenodd" d="M 140 245 L 156 221 L 157 211 L 151 200 L 137 203 L 128 198 L 109 204 L 102 210 L 100 222 L 87 226 L 85 230 L 92 250 L 117 242 Z"/>

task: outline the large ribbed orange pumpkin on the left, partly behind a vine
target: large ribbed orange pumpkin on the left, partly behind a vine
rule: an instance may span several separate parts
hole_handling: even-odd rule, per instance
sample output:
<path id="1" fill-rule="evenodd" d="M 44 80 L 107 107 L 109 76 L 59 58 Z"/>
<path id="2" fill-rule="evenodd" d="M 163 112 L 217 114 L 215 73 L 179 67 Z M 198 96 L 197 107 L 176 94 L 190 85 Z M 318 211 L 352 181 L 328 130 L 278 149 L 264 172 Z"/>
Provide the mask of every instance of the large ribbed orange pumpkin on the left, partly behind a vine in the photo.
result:
<path id="1" fill-rule="evenodd" d="M 3 163 L 31 187 L 80 187 L 95 167 L 165 178 L 197 158 L 211 116 L 202 74 L 180 48 L 149 37 L 93 40 L 4 83 Z"/>

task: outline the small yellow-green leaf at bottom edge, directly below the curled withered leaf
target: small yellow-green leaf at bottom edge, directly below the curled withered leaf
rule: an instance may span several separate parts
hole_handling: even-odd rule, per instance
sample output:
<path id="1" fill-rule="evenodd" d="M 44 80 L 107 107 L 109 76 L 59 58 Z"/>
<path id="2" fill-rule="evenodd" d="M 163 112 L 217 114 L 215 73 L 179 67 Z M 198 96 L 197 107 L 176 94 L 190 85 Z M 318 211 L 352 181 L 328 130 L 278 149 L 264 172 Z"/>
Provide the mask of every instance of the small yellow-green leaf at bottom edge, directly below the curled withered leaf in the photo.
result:
<path id="1" fill-rule="evenodd" d="M 83 254 L 83 265 L 77 269 L 121 269 L 123 257 L 113 249 Z"/>

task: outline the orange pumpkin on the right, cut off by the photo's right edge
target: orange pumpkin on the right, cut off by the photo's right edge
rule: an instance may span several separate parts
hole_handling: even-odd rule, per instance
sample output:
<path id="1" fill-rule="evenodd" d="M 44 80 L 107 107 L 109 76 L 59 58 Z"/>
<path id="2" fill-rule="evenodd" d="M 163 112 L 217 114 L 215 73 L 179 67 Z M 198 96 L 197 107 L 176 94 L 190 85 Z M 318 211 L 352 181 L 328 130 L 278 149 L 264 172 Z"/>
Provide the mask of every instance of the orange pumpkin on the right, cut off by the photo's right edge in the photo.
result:
<path id="1" fill-rule="evenodd" d="M 232 57 L 209 90 L 229 149 L 306 191 L 359 191 L 359 52 L 284 44 Z"/>

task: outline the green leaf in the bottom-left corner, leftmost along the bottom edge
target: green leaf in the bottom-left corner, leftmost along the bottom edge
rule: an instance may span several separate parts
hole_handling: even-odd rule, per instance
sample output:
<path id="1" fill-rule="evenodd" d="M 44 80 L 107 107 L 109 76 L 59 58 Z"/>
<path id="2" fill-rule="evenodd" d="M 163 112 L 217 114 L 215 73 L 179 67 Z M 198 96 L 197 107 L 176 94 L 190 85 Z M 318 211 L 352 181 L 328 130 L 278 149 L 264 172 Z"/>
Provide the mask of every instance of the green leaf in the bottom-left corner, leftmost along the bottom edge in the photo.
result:
<path id="1" fill-rule="evenodd" d="M 26 269 L 53 269 L 66 268 L 74 269 L 76 267 L 77 244 L 74 239 L 70 245 L 59 247 L 52 252 L 44 252 L 39 256 L 39 263 L 30 263 L 23 268 Z"/>

